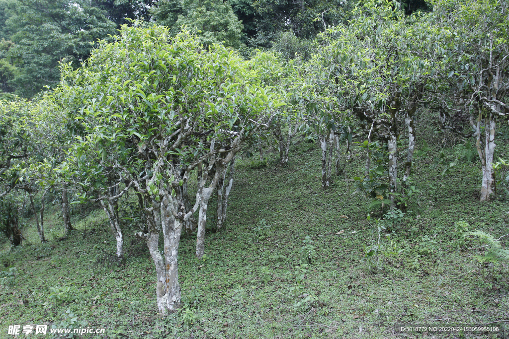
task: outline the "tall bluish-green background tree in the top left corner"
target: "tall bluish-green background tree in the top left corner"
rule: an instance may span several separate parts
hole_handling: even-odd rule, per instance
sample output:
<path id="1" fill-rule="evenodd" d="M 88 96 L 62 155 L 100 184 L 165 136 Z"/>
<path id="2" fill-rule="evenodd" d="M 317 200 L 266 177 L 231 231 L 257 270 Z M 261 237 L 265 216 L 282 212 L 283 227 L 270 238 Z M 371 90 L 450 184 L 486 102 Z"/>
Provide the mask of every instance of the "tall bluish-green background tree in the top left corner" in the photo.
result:
<path id="1" fill-rule="evenodd" d="M 84 0 L 8 0 L 3 6 L 4 34 L 14 43 L 8 60 L 19 69 L 10 83 L 26 97 L 58 84 L 60 61 L 78 67 L 88 57 L 91 42 L 115 32 L 104 11 Z"/>

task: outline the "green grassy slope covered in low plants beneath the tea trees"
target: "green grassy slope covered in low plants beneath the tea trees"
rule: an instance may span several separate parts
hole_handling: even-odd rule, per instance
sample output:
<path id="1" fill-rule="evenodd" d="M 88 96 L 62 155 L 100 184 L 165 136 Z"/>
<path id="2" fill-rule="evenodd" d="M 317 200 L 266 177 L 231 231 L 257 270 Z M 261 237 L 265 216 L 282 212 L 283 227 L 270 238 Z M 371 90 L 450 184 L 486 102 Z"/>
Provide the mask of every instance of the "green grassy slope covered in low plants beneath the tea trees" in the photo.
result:
<path id="1" fill-rule="evenodd" d="M 507 158 L 503 131 L 497 152 Z M 434 139 L 431 129 L 419 133 L 438 150 L 442 136 Z M 355 152 L 346 178 L 361 171 L 364 158 Z M 101 259 L 103 251 L 115 252 L 115 238 L 100 210 L 87 218 L 84 238 L 84 220 L 74 221 L 78 230 L 68 239 L 45 244 L 38 243 L 35 227 L 26 227 L 25 236 L 35 244 L 11 252 L 4 246 L 0 257 L 19 271 L 14 285 L 0 288 L 0 337 L 9 337 L 10 324 L 59 325 L 67 309 L 78 321 L 105 327 L 107 337 L 132 338 L 385 338 L 397 336 L 397 323 L 481 325 L 509 319 L 507 264 L 486 268 L 473 257 L 481 253 L 475 241 L 467 241 L 473 249 L 457 252 L 454 239 L 458 220 L 496 238 L 508 233 L 507 200 L 477 201 L 478 162 L 445 177 L 430 168 L 431 159 L 418 162 L 413 178 L 420 193 L 392 237 L 405 251 L 381 254 L 383 267 L 374 272 L 363 260 L 365 247 L 378 241 L 373 219 L 369 224 L 365 218 L 369 201 L 353 194 L 350 181 L 320 188 L 315 145 L 300 143 L 291 156 L 285 167 L 274 159 L 262 169 L 252 169 L 249 159 L 237 161 L 228 227 L 207 233 L 204 260 L 194 258 L 194 237 L 183 236 L 179 273 L 189 311 L 165 319 L 157 316 L 154 266 L 146 245 L 132 237 L 134 229 L 125 230 L 128 258 L 119 268 Z M 214 202 L 209 206 L 212 217 Z M 56 215 L 48 216 L 48 234 L 61 227 Z M 260 225 L 266 227 L 254 230 Z M 419 257 L 425 235 L 437 241 L 435 252 Z M 316 250 L 308 266 L 300 253 L 306 236 Z M 382 236 L 381 243 L 389 241 Z M 49 298 L 50 287 L 70 289 L 57 300 Z M 307 295 L 312 300 L 299 305 Z M 52 307 L 44 308 L 45 302 Z"/>

